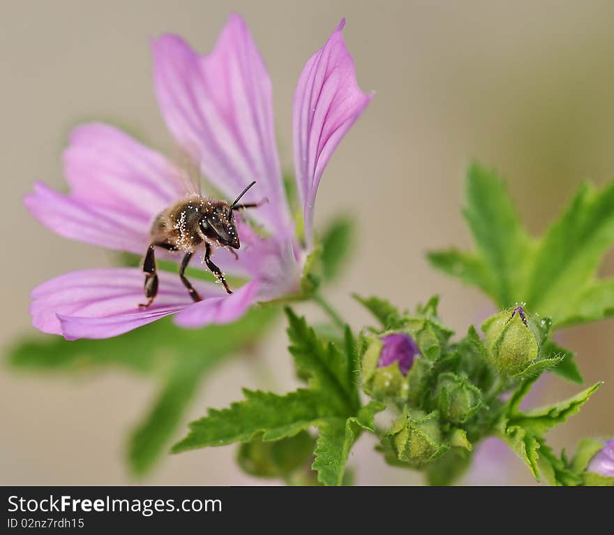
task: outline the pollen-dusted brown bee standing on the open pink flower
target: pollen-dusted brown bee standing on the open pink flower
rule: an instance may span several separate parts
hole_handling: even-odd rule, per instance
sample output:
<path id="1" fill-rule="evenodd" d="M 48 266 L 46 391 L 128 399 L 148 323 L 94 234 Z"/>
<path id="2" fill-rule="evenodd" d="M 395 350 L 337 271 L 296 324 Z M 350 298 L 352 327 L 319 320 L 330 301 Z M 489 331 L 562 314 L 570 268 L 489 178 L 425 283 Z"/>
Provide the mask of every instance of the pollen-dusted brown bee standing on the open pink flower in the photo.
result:
<path id="1" fill-rule="evenodd" d="M 234 212 L 246 208 L 256 208 L 268 199 L 259 203 L 239 204 L 248 189 L 256 182 L 249 184 L 241 194 L 234 199 L 232 204 L 225 200 L 204 197 L 199 193 L 179 200 L 177 203 L 160 212 L 151 226 L 151 243 L 147 247 L 147 253 L 143 261 L 145 274 L 144 293 L 146 303 L 139 307 L 147 308 L 158 293 L 158 274 L 156 272 L 156 247 L 167 251 L 183 251 L 184 258 L 179 267 L 179 278 L 188 289 L 190 297 L 195 301 L 202 301 L 202 297 L 186 278 L 185 272 L 197 247 L 204 244 L 204 263 L 207 268 L 220 281 L 227 293 L 232 293 L 228 286 L 225 275 L 211 261 L 212 247 L 226 247 L 238 258 L 235 249 L 241 247 L 237 224 L 234 220 Z"/>

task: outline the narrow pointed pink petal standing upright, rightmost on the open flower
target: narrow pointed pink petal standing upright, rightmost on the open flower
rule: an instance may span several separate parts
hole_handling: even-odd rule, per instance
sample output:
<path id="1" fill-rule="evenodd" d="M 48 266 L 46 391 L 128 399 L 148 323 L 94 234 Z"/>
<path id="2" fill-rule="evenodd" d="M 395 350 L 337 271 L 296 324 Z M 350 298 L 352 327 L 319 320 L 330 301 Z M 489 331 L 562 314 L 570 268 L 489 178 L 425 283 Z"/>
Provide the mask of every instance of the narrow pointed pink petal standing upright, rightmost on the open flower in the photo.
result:
<path id="1" fill-rule="evenodd" d="M 308 245 L 313 242 L 315 194 L 324 168 L 343 135 L 373 98 L 358 87 L 354 61 L 341 34 L 344 25 L 345 19 L 307 61 L 294 92 L 294 168 Z"/>

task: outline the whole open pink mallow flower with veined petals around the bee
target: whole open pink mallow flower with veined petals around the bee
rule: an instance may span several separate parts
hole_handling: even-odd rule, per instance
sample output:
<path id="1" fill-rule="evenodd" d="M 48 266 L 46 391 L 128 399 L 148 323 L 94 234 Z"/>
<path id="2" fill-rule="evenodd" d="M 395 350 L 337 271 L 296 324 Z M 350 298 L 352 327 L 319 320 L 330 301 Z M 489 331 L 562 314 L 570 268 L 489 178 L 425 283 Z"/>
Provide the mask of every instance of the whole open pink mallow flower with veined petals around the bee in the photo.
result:
<path id="1" fill-rule="evenodd" d="M 320 178 L 371 98 L 357 85 L 341 34 L 344 23 L 307 61 L 294 94 L 294 165 L 306 249 L 294 235 L 283 189 L 271 82 L 244 20 L 232 15 L 206 56 L 178 36 L 163 35 L 152 43 L 154 86 L 174 139 L 226 200 L 232 201 L 253 180 L 257 184 L 242 202 L 269 199 L 249 213 L 267 236 L 237 221 L 238 260 L 225 249 L 214 257 L 228 274 L 248 282 L 227 295 L 219 285 L 192 281 L 203 298 L 193 302 L 177 274 L 158 272 L 156 299 L 151 307 L 139 308 L 144 301 L 139 268 L 70 272 L 31 293 L 36 328 L 66 339 L 107 338 L 169 314 L 176 314 L 178 325 L 200 327 L 234 321 L 255 302 L 297 291 L 313 245 Z M 64 166 L 70 193 L 36 184 L 24 199 L 31 214 L 59 235 L 119 251 L 144 255 L 156 215 L 194 193 L 184 173 L 164 156 L 105 124 L 73 131 Z"/>

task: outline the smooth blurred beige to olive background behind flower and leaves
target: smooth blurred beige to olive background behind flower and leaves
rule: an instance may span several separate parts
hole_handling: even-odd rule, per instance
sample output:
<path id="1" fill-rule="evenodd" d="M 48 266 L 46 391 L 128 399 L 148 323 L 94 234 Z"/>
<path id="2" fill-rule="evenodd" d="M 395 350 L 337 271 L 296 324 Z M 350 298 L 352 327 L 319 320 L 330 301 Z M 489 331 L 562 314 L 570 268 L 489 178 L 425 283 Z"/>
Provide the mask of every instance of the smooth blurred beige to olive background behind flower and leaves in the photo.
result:
<path id="1" fill-rule="evenodd" d="M 442 316 L 459 331 L 488 314 L 477 291 L 430 271 L 424 261 L 429 247 L 470 246 L 459 213 L 470 159 L 507 177 L 535 232 L 578 182 L 614 177 L 611 1 L 1 0 L 0 8 L 2 346 L 31 332 L 33 286 L 109 262 L 105 251 L 40 226 L 24 210 L 22 195 L 35 180 L 64 186 L 60 154 L 78 122 L 123 124 L 170 151 L 151 87 L 149 38 L 173 31 L 208 51 L 230 10 L 246 17 L 269 69 L 286 166 L 292 163 L 294 85 L 342 16 L 359 83 L 377 91 L 327 168 L 316 214 L 320 223 L 339 210 L 357 215 L 354 263 L 330 296 L 357 325 L 367 316 L 349 291 L 377 292 L 407 306 L 439 292 Z M 393 203 L 403 208 L 391 210 Z M 385 214 L 385 239 L 379 225 L 370 226 L 370 214 Z M 604 273 L 612 268 L 608 263 Z M 614 432 L 613 326 L 604 321 L 564 332 L 587 382 L 604 379 L 606 387 L 581 416 L 551 435 L 555 446 L 572 446 L 582 434 Z M 264 353 L 277 388 L 290 388 L 281 325 Z M 234 360 L 207 381 L 190 416 L 236 399 L 241 386 L 267 385 L 244 360 Z M 77 380 L 2 367 L 0 483 L 129 482 L 123 441 L 155 388 L 121 371 Z M 541 398 L 576 389 L 553 379 Z M 226 447 L 170 457 L 148 483 L 257 483 L 234 467 L 233 455 Z M 420 481 L 386 467 L 368 437 L 350 464 L 361 484 Z M 527 470 L 517 467 L 502 467 L 481 481 L 530 483 Z"/>

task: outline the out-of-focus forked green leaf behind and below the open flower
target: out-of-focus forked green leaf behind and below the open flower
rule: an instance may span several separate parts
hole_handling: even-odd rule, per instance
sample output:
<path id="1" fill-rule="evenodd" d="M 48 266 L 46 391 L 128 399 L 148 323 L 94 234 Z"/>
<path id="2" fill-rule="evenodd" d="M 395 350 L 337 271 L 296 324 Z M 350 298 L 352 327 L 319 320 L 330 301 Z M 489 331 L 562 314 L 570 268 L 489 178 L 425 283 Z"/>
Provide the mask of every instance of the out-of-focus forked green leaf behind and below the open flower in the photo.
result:
<path id="1" fill-rule="evenodd" d="M 257 309 L 232 325 L 200 330 L 181 329 L 163 318 L 104 340 L 24 339 L 8 351 L 8 363 L 37 372 L 94 373 L 124 367 L 153 376 L 160 388 L 133 430 L 127 451 L 130 470 L 144 476 L 165 453 L 202 380 L 220 361 L 262 337 L 277 314 L 274 308 Z"/>

